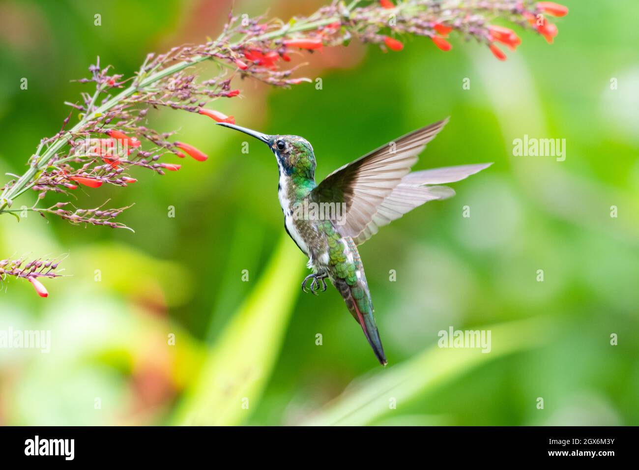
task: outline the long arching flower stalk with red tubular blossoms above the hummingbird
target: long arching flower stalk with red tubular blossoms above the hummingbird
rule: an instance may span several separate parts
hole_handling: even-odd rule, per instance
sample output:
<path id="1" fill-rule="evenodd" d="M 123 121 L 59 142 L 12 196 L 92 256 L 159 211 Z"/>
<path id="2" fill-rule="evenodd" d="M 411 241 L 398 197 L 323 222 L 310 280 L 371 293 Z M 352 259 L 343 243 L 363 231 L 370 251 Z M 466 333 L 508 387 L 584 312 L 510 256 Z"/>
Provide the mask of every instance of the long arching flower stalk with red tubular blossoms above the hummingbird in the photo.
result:
<path id="1" fill-rule="evenodd" d="M 144 168 L 165 175 L 177 171 L 173 157 L 190 155 L 196 162 L 208 158 L 188 143 L 172 141 L 174 132 L 159 132 L 146 126 L 151 109 L 170 108 L 202 114 L 217 122 L 235 123 L 210 107 L 220 98 L 233 99 L 239 88 L 236 79 L 254 79 L 275 87 L 290 87 L 310 80 L 293 77 L 298 66 L 288 67 L 293 54 L 321 53 L 323 47 L 348 45 L 352 38 L 373 43 L 385 51 L 402 51 L 410 36 L 430 38 L 442 51 L 452 48 L 449 34 L 457 33 L 486 45 L 500 60 L 506 59 L 495 42 L 514 51 L 520 38 L 509 28 L 493 26 L 502 19 L 536 31 L 552 42 L 557 27 L 544 14 L 562 17 L 567 8 L 556 3 L 525 0 L 334 0 L 309 17 L 289 22 L 263 18 L 241 19 L 229 14 L 222 33 L 199 45 L 174 47 L 164 54 L 149 54 L 134 77 L 113 74 L 101 67 L 100 59 L 89 67 L 93 93 L 82 93 L 80 102 L 67 102 L 79 111 L 79 120 L 70 129 L 72 114 L 62 129 L 42 139 L 29 159 L 29 168 L 0 190 L 0 215 L 13 214 L 16 198 L 32 189 L 38 201 L 47 194 L 67 194 L 82 187 L 102 191 L 105 185 L 127 187 L 137 178 L 129 171 Z M 201 79 L 196 67 L 204 61 L 220 66 L 220 73 Z M 282 67 L 284 65 L 285 67 Z M 194 163 L 190 161 L 188 163 Z M 197 164 L 197 163 L 196 163 Z M 68 210 L 68 202 L 47 208 L 32 208 L 42 215 L 55 215 L 75 224 L 127 228 L 113 221 L 125 208 L 115 210 Z M 22 276 L 18 276 L 22 277 Z"/>

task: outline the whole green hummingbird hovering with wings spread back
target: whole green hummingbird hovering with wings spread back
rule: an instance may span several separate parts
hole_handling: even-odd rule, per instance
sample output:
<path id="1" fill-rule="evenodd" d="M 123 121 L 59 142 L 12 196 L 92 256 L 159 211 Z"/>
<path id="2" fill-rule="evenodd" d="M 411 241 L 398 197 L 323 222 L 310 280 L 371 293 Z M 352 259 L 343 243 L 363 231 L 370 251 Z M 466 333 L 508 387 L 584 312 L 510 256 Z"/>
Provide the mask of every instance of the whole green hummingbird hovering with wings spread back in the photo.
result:
<path id="1" fill-rule="evenodd" d="M 325 279 L 330 279 L 383 366 L 388 361 L 357 246 L 413 208 L 454 196 L 453 189 L 441 184 L 458 182 L 492 164 L 411 172 L 417 155 L 447 122 L 448 118 L 437 121 L 382 145 L 336 169 L 319 184 L 315 182 L 313 148 L 303 137 L 270 136 L 231 123 L 217 124 L 255 137 L 273 152 L 284 228 L 309 258 L 307 267 L 312 269 L 302 281 L 302 291 L 318 295 L 320 288 L 327 289 Z M 304 207 L 311 210 L 301 216 Z M 312 210 L 318 207 L 329 210 Z"/>

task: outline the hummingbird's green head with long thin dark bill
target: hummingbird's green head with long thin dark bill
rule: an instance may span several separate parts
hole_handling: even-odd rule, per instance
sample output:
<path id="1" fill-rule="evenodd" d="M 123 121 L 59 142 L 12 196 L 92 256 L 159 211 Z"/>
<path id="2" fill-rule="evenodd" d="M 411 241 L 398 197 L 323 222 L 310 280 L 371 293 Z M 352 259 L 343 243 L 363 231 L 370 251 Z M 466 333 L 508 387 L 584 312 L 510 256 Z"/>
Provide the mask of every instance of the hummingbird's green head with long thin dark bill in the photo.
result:
<path id="1" fill-rule="evenodd" d="M 277 166 L 286 175 L 302 175 L 313 178 L 315 175 L 315 155 L 309 141 L 300 136 L 269 136 L 256 130 L 247 129 L 235 124 L 220 122 L 218 125 L 239 130 L 244 134 L 262 141 L 275 154 Z"/>

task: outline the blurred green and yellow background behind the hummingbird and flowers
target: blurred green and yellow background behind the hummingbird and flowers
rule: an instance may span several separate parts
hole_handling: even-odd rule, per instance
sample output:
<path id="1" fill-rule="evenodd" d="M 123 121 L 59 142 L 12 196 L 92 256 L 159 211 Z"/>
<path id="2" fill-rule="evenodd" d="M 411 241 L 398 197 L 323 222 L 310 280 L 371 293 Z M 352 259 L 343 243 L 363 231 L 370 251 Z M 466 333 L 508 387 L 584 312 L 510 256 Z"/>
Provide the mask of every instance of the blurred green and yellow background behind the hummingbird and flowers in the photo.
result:
<path id="1" fill-rule="evenodd" d="M 2 285 L 0 329 L 50 330 L 52 345 L 0 349 L 0 423 L 638 425 L 639 56 L 624 19 L 639 6 L 563 3 L 555 44 L 518 31 L 505 63 L 456 35 L 447 53 L 424 38 L 387 54 L 353 42 L 299 72 L 322 90 L 245 81 L 242 98 L 215 104 L 241 125 L 306 137 L 318 179 L 448 115 L 416 169 L 495 162 L 360 247 L 387 368 L 334 288 L 301 294 L 305 260 L 284 234 L 270 152 L 250 143 L 245 155 L 240 134 L 163 109 L 156 129 L 179 129 L 210 159 L 78 194 L 81 207 L 135 202 L 122 215 L 135 234 L 0 217 L 0 259 L 68 253 L 71 276 L 45 279 L 47 299 Z M 235 11 L 288 19 L 320 4 Z M 96 55 L 128 76 L 147 52 L 217 36 L 229 5 L 0 3 L 0 172 L 22 173 L 59 130 L 63 102 L 88 90 L 71 80 Z M 524 134 L 566 139 L 566 161 L 513 156 Z M 490 329 L 491 352 L 438 348 L 450 326 Z"/>

